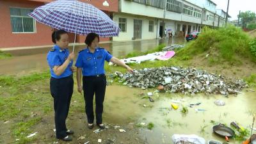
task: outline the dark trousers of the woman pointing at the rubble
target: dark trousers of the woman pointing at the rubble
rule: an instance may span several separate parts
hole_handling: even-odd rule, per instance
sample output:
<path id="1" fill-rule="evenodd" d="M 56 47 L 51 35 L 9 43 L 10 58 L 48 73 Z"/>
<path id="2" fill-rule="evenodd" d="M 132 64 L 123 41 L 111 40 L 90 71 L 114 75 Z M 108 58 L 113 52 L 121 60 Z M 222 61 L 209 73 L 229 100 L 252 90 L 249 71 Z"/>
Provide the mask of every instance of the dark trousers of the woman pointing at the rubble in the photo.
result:
<path id="1" fill-rule="evenodd" d="M 104 74 L 97 76 L 83 76 L 83 91 L 85 101 L 85 112 L 88 123 L 92 124 L 93 115 L 93 95 L 95 93 L 95 114 L 96 124 L 102 124 L 103 102 L 106 91 L 106 76 Z"/>

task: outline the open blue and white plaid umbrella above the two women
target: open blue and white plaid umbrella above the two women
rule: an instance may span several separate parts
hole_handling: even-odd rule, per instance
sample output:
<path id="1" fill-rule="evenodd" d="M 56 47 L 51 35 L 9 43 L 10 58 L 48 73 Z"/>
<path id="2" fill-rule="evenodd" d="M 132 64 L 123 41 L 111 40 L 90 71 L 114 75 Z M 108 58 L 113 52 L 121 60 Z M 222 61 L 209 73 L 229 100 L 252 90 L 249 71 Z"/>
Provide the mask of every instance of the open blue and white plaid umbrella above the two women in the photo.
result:
<path id="1" fill-rule="evenodd" d="M 53 1 L 36 8 L 28 15 L 52 28 L 80 35 L 97 33 L 102 37 L 118 36 L 120 31 L 106 13 L 91 4 L 76 0 Z"/>

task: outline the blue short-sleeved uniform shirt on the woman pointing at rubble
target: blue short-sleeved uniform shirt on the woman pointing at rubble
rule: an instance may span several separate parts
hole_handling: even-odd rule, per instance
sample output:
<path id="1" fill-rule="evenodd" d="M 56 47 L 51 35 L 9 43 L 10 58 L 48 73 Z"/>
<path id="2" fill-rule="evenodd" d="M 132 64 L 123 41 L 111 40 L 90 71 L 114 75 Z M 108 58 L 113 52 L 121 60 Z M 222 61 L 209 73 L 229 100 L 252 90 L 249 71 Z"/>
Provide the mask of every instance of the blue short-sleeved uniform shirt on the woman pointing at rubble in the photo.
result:
<path id="1" fill-rule="evenodd" d="M 104 62 L 105 60 L 109 62 L 112 57 L 113 56 L 104 48 L 97 47 L 92 53 L 87 47 L 79 52 L 76 60 L 76 67 L 82 68 L 83 76 L 105 74 Z"/>

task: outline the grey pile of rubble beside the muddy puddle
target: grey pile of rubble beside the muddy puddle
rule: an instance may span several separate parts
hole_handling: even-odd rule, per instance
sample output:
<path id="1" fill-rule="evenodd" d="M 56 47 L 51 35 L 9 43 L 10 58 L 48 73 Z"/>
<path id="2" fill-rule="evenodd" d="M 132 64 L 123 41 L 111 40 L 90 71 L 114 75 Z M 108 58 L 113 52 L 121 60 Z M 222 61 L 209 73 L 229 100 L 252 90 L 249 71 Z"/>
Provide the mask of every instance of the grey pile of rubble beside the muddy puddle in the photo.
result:
<path id="1" fill-rule="evenodd" d="M 204 70 L 182 67 L 144 68 L 133 74 L 115 72 L 119 81 L 131 87 L 156 88 L 164 86 L 165 91 L 181 93 L 236 94 L 246 87 L 246 83 L 237 79 L 225 79 Z"/>

